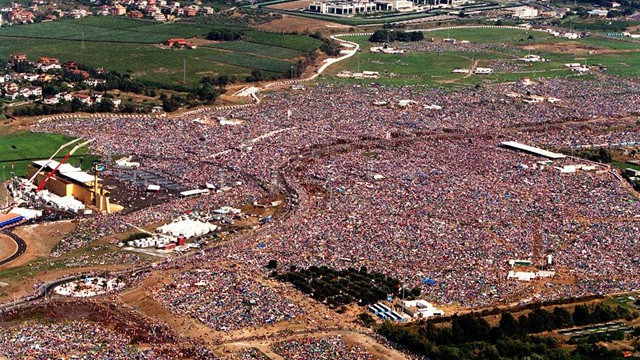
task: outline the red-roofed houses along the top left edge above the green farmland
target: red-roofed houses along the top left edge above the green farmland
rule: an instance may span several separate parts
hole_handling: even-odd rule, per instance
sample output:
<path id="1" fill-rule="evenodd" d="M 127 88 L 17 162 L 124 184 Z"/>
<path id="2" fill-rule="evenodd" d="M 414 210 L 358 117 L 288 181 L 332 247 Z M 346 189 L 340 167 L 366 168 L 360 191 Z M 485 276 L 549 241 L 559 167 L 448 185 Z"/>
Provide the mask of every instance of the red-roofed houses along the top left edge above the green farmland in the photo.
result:
<path id="1" fill-rule="evenodd" d="M 180 4 L 167 0 L 92 0 L 90 7 L 60 8 L 55 2 L 35 0 L 31 3 L 12 3 L 0 7 L 0 26 L 22 25 L 36 21 L 55 21 L 61 18 L 79 19 L 89 15 L 128 16 L 134 19 L 151 18 L 156 21 L 173 21 L 180 17 L 199 14 L 210 15 L 214 9 L 201 6 L 200 1 Z"/>

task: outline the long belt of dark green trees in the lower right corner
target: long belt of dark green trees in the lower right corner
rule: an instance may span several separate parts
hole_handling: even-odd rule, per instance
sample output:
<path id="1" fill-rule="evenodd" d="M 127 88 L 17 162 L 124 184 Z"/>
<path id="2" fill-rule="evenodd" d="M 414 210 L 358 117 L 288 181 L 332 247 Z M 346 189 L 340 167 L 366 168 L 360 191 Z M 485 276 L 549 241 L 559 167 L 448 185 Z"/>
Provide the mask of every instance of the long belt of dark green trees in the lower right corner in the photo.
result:
<path id="1" fill-rule="evenodd" d="M 619 353 L 603 353 L 603 349 L 589 346 L 573 352 L 561 350 L 553 338 L 531 334 L 637 316 L 622 307 L 598 304 L 590 310 L 585 305 L 578 305 L 573 312 L 561 307 L 551 312 L 536 308 L 518 319 L 505 312 L 499 324 L 493 327 L 478 314 L 465 314 L 453 316 L 451 327 L 436 326 L 431 321 L 411 325 L 385 322 L 377 331 L 416 353 L 436 359 L 512 359 L 533 354 L 537 359 L 592 359 L 596 355 L 616 359 L 621 357 Z"/>

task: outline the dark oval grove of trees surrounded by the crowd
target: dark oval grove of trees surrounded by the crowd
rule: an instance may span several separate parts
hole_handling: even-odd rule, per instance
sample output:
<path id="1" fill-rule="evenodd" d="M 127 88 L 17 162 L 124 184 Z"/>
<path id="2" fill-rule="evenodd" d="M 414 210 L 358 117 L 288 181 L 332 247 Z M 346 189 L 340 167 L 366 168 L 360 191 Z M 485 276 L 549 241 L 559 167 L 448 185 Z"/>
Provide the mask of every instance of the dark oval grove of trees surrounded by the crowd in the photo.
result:
<path id="1" fill-rule="evenodd" d="M 272 273 L 280 281 L 286 281 L 305 294 L 330 306 L 373 304 L 389 294 L 397 294 L 400 282 L 379 272 L 368 272 L 365 267 L 356 270 L 335 270 L 326 266 L 295 268 L 284 274 Z"/>

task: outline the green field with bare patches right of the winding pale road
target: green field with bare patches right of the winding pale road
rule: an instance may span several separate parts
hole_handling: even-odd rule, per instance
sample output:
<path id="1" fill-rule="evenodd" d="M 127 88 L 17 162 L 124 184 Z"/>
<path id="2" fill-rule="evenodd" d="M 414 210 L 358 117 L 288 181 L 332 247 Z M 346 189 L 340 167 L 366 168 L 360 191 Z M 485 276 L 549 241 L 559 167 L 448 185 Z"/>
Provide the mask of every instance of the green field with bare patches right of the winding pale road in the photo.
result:
<path id="1" fill-rule="evenodd" d="M 326 81 L 354 83 L 377 82 L 388 85 L 454 86 L 480 83 L 517 81 L 523 77 L 576 76 L 565 63 L 585 61 L 589 65 L 602 65 L 607 73 L 621 76 L 640 76 L 640 43 L 614 38 L 589 37 L 567 40 L 538 31 L 517 29 L 451 29 L 425 32 L 420 43 L 405 43 L 409 51 L 404 55 L 375 54 L 368 36 L 349 36 L 345 40 L 361 45 L 361 51 L 343 63 L 331 68 L 328 74 L 342 70 L 377 71 L 378 80 L 353 80 L 326 77 Z M 530 36 L 532 38 L 530 38 Z M 428 43 L 433 38 L 436 44 Z M 468 40 L 467 47 L 440 43 L 444 38 Z M 517 58 L 528 54 L 540 55 L 548 62 L 524 63 Z M 491 75 L 453 74 L 455 68 L 477 67 L 494 69 Z"/>

